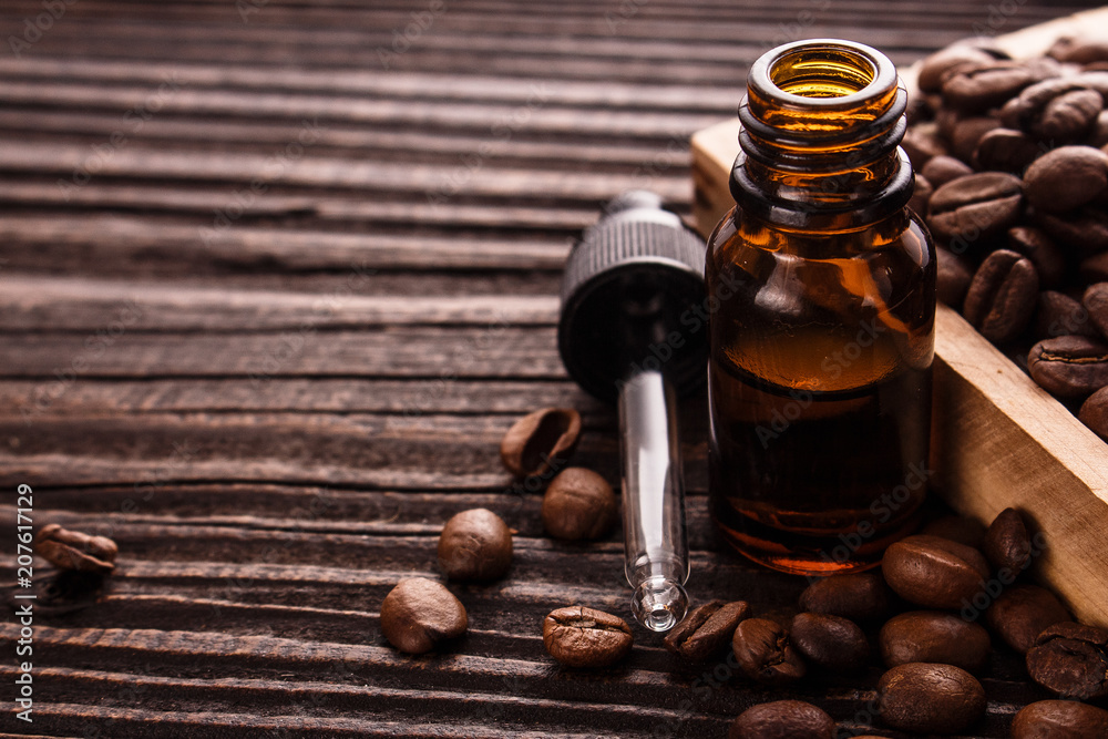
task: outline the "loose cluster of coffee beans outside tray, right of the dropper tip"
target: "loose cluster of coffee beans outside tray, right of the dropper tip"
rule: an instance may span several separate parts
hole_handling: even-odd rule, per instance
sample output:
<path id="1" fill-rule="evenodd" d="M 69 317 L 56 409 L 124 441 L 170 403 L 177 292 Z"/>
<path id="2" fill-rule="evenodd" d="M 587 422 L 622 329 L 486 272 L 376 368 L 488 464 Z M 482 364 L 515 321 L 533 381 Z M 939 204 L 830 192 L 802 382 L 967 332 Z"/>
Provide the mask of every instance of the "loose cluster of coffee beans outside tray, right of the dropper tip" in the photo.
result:
<path id="1" fill-rule="evenodd" d="M 890 546 L 880 572 L 813 582 L 791 618 L 747 617 L 747 604 L 731 604 L 731 613 L 740 615 L 730 639 L 735 660 L 751 680 L 782 686 L 812 673 L 862 670 L 878 659 L 886 671 L 875 685 L 872 710 L 855 723 L 913 733 L 972 731 L 985 714 L 978 677 L 988 669 L 994 637 L 1025 655 L 1028 676 L 1059 698 L 1104 698 L 1108 632 L 1075 623 L 1053 593 L 1022 582 L 1043 550 L 1043 537 L 1013 509 L 987 528 L 960 519 L 936 521 Z M 708 607 L 724 606 L 701 608 Z M 697 624 L 710 620 L 699 612 L 678 628 L 695 634 Z M 726 639 L 718 630 L 708 636 L 717 645 Z M 691 638 L 671 635 L 666 646 L 689 657 L 679 647 Z M 718 651 L 696 656 L 707 659 Z M 1101 708 L 1044 700 L 1019 711 L 1012 736 L 1104 737 L 1106 727 L 1108 711 Z M 815 706 L 779 700 L 741 714 L 729 737 L 830 739 L 847 730 L 840 727 L 837 735 L 835 722 Z"/>

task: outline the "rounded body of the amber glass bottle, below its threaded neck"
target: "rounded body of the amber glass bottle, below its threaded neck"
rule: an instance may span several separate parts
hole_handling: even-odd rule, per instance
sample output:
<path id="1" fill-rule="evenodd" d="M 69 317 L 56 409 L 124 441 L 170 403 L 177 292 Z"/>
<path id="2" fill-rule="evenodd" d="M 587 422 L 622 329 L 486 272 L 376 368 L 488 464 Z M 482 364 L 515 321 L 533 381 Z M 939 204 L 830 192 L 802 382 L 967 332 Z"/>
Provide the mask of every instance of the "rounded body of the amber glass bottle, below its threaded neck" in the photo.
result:
<path id="1" fill-rule="evenodd" d="M 820 260 L 736 235 L 709 268 L 711 284 L 741 285 L 711 317 L 712 513 L 761 564 L 864 569 L 916 524 L 931 475 L 931 277 L 917 232 L 893 242 Z"/>

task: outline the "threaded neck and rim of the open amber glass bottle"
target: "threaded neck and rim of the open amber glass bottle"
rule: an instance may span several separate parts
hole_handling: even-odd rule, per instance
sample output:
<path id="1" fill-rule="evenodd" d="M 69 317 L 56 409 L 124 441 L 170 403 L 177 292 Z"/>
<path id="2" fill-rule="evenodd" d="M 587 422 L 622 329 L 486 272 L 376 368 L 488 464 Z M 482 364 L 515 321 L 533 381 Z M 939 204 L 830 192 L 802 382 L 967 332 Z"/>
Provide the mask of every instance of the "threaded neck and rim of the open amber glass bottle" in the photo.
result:
<path id="1" fill-rule="evenodd" d="M 904 208 L 907 93 L 884 54 L 801 41 L 762 55 L 739 106 L 730 188 L 743 215 L 796 230 L 855 230 Z"/>

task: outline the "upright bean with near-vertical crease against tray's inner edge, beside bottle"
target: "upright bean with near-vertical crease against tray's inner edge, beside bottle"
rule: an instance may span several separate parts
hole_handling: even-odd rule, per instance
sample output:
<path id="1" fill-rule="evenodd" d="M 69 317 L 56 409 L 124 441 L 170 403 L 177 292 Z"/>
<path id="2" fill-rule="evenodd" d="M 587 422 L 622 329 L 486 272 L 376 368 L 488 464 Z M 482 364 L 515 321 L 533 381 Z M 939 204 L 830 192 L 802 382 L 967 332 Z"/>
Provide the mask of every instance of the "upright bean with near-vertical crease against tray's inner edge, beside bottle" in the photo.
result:
<path id="1" fill-rule="evenodd" d="M 997 249 L 970 281 L 963 315 L 989 341 L 1012 341 L 1027 328 L 1038 291 L 1038 273 L 1030 259 Z"/>

